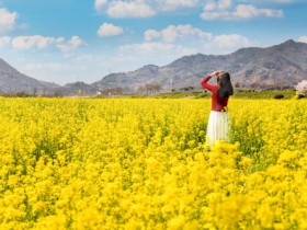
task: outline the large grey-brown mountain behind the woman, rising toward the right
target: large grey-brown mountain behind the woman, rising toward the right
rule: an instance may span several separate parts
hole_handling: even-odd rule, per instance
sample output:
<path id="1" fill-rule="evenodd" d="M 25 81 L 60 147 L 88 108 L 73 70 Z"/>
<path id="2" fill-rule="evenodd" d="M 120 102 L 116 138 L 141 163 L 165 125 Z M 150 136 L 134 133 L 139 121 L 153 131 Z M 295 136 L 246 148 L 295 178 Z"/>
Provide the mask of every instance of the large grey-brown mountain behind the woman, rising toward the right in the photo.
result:
<path id="1" fill-rule="evenodd" d="M 232 84 L 248 89 L 292 88 L 307 80 L 307 44 L 292 39 L 268 48 L 241 48 L 228 55 L 191 55 L 157 67 L 105 76 L 92 83 L 99 89 L 123 88 L 135 92 L 141 85 L 159 84 L 164 90 L 200 89 L 204 76 L 215 70 L 231 74 Z"/>

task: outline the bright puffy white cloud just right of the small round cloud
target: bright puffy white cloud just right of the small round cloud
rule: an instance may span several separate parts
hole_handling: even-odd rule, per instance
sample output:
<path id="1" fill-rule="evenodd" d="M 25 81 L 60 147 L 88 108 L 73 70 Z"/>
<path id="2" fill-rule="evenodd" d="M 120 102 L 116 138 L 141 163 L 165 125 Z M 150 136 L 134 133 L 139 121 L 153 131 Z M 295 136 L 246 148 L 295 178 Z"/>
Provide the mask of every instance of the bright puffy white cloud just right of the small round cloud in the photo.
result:
<path id="1" fill-rule="evenodd" d="M 193 27 L 190 24 L 186 25 L 169 25 L 162 31 L 148 30 L 145 32 L 145 41 L 162 41 L 167 43 L 173 43 L 177 39 L 198 39 L 209 38 L 211 33 L 203 32 L 200 28 Z"/>

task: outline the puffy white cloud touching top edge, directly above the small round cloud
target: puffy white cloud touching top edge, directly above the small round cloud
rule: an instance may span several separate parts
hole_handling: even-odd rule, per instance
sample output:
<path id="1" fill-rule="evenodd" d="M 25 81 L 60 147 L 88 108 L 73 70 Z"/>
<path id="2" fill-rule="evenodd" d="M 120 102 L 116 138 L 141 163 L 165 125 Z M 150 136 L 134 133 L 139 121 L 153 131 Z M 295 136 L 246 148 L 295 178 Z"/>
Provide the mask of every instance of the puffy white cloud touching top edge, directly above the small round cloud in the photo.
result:
<path id="1" fill-rule="evenodd" d="M 143 1 L 114 1 L 109 4 L 106 12 L 111 18 L 150 18 L 156 14 Z"/>

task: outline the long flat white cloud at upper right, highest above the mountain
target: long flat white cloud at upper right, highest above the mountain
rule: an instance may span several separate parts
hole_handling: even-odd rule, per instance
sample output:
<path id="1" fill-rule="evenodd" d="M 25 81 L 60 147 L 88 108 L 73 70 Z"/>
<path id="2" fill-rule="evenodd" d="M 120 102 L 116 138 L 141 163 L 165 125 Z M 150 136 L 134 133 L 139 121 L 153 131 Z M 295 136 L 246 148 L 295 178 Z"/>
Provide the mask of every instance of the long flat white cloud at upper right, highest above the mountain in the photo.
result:
<path id="1" fill-rule="evenodd" d="M 241 20 L 257 16 L 282 18 L 283 15 L 282 10 L 258 9 L 251 4 L 238 4 L 235 11 L 211 11 L 204 8 L 204 12 L 201 14 L 201 18 L 203 20 Z"/>

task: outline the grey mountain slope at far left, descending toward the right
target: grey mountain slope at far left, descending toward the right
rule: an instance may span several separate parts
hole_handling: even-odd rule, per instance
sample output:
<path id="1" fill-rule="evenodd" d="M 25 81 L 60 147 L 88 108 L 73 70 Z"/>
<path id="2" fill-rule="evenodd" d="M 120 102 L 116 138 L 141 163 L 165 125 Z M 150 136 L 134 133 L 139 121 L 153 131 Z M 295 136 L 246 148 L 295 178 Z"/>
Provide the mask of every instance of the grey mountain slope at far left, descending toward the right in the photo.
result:
<path id="1" fill-rule="evenodd" d="M 0 58 L 0 93 L 54 94 L 60 85 L 27 77 Z"/>

